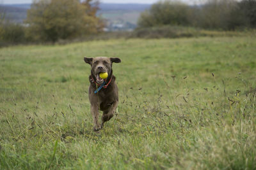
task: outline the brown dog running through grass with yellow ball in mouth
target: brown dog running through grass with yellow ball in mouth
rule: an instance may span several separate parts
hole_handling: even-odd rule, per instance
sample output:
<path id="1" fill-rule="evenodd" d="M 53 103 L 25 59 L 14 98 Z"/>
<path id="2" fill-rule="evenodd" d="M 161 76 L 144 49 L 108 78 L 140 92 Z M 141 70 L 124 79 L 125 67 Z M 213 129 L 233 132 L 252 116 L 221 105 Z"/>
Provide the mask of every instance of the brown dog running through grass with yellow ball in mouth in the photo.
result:
<path id="1" fill-rule="evenodd" d="M 84 57 L 84 61 L 91 65 L 91 75 L 89 76 L 89 99 L 91 103 L 91 113 L 94 120 L 94 131 L 102 129 L 104 122 L 110 120 L 118 105 L 118 89 L 113 75 L 113 62 L 121 62 L 118 58 L 108 57 Z M 103 80 L 100 73 L 108 72 L 108 78 Z M 99 110 L 103 111 L 102 122 L 99 123 Z"/>

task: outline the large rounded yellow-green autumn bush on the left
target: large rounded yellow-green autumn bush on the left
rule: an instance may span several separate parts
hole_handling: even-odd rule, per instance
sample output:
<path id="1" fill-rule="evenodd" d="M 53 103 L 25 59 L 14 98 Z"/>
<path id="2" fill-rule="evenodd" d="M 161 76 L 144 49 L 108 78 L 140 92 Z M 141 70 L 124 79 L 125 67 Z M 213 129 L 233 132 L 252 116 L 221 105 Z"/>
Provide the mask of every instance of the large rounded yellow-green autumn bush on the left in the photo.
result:
<path id="1" fill-rule="evenodd" d="M 72 39 L 102 30 L 102 21 L 96 17 L 97 8 L 91 0 L 39 0 L 28 10 L 28 38 L 36 41 Z"/>

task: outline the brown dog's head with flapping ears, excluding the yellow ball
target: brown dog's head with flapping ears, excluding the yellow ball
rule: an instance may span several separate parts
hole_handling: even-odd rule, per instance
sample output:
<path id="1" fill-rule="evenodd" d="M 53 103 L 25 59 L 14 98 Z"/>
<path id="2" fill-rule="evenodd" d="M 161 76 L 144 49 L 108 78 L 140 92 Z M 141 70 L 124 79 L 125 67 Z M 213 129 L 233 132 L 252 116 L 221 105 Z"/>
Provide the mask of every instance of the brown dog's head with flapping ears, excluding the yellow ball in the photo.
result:
<path id="1" fill-rule="evenodd" d="M 108 72 L 108 77 L 111 76 L 112 73 L 112 64 L 113 62 L 121 62 L 119 58 L 109 58 L 109 57 L 94 57 L 88 58 L 84 57 L 84 61 L 91 65 L 91 73 L 95 78 L 96 82 L 101 84 L 104 82 L 102 78 L 100 78 L 100 73 Z"/>

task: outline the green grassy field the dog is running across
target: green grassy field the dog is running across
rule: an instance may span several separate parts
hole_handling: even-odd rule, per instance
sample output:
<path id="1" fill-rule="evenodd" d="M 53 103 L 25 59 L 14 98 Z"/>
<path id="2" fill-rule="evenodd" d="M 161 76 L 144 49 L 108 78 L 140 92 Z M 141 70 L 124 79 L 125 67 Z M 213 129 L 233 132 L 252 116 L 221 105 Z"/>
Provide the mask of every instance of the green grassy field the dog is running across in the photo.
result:
<path id="1" fill-rule="evenodd" d="M 0 169 L 256 169 L 255 37 L 0 49 Z M 90 66 L 114 64 L 118 115 L 93 132 Z"/>

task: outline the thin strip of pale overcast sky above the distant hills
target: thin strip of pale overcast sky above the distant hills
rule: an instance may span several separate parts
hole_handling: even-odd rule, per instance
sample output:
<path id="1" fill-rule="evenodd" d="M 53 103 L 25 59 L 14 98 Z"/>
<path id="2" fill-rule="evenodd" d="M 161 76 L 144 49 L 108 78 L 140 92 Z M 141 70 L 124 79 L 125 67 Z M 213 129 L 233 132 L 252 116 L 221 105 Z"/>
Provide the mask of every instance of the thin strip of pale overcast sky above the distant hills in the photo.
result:
<path id="1" fill-rule="evenodd" d="M 100 0 L 101 3 L 145 3 L 152 4 L 156 3 L 158 0 Z M 193 0 L 182 0 L 186 3 L 193 4 Z M 31 3 L 32 0 L 0 0 L 0 4 L 25 4 Z"/>

